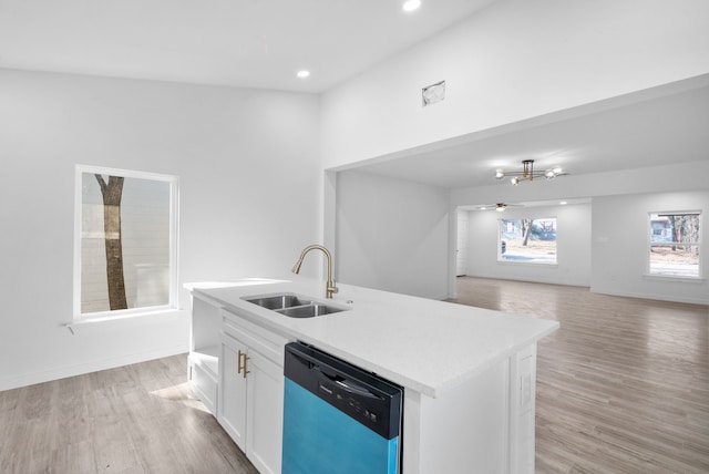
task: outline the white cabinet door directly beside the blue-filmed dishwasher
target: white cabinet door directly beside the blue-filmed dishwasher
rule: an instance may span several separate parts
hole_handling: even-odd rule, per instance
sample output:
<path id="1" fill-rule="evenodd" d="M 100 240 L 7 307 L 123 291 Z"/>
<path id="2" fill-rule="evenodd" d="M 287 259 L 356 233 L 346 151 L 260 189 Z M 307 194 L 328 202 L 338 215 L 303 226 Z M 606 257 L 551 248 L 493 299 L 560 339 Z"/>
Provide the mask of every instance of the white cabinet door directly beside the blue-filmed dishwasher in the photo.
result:
<path id="1" fill-rule="evenodd" d="M 284 370 L 249 349 L 246 455 L 260 473 L 280 473 Z"/>

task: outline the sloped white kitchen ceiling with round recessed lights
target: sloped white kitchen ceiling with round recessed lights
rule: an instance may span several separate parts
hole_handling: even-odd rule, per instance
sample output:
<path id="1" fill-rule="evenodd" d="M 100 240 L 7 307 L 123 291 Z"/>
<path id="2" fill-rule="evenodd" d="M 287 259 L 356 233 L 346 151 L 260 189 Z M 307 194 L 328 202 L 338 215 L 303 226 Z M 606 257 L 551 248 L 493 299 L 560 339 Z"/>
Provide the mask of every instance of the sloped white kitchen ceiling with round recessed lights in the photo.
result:
<path id="1" fill-rule="evenodd" d="M 320 93 L 493 1 L 0 0 L 0 68 Z"/>

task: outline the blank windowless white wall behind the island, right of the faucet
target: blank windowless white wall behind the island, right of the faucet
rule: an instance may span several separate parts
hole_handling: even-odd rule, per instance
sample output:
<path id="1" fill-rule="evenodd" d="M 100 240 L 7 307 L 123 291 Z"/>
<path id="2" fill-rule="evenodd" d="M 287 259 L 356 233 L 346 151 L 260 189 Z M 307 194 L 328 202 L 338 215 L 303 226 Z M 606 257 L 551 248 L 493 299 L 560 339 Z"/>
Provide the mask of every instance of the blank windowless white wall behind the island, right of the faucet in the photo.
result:
<path id="1" fill-rule="evenodd" d="M 361 172 L 337 178 L 337 280 L 448 296 L 448 190 Z"/>

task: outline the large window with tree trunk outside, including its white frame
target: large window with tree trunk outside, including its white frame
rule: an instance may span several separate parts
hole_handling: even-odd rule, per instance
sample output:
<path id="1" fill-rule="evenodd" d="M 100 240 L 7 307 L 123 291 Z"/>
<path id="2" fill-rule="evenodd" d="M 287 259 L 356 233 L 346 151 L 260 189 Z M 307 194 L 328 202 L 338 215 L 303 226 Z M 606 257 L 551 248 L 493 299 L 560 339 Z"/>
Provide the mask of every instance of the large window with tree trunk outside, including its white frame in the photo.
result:
<path id="1" fill-rule="evenodd" d="M 76 166 L 74 317 L 177 307 L 177 177 Z"/>

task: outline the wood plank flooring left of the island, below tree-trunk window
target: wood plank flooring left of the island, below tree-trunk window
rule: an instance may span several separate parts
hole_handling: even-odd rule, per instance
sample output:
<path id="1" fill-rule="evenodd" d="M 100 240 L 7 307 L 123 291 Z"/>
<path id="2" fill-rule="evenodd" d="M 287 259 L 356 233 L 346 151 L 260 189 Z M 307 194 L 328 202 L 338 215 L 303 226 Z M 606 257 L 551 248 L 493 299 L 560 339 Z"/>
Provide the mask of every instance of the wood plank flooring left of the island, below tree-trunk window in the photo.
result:
<path id="1" fill-rule="evenodd" d="M 0 392 L 0 473 L 257 473 L 186 370 L 175 356 Z"/>

